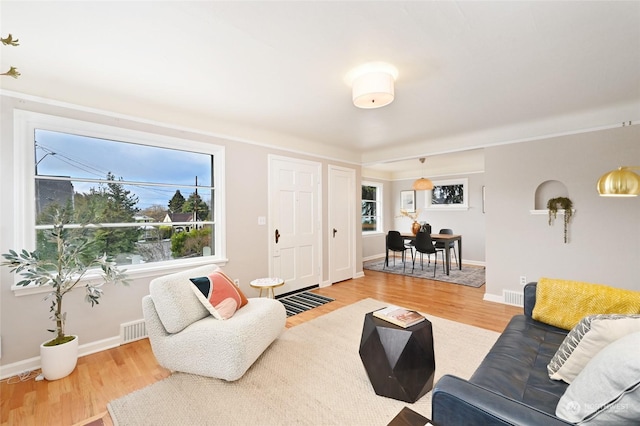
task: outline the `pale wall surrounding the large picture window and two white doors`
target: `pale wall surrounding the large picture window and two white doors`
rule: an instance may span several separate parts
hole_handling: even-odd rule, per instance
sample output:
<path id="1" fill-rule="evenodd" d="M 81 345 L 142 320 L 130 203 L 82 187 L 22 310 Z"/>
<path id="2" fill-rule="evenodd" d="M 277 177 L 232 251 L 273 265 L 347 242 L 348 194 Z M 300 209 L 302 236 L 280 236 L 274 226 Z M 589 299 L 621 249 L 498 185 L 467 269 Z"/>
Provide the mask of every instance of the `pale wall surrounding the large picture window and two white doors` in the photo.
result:
<path id="1" fill-rule="evenodd" d="M 118 125 L 136 130 L 160 133 L 186 139 L 224 145 L 226 152 L 226 223 L 227 223 L 227 257 L 225 272 L 231 277 L 240 279 L 240 286 L 249 297 L 257 296 L 255 289 L 249 286 L 249 281 L 268 274 L 268 241 L 272 232 L 267 226 L 258 225 L 258 216 L 267 216 L 268 194 L 268 155 L 276 154 L 318 161 L 322 164 L 322 199 L 323 199 L 323 227 L 327 223 L 327 168 L 329 164 L 350 167 L 356 170 L 357 182 L 360 181 L 360 167 L 353 164 L 324 158 L 305 156 L 282 150 L 241 143 L 225 138 L 214 137 L 204 132 L 191 132 L 171 129 L 164 126 L 144 124 L 125 118 L 114 119 L 108 115 L 82 111 L 76 108 L 65 108 L 53 104 L 45 104 L 33 100 L 17 99 L 2 95 L 0 97 L 0 199 L 3 208 L 0 209 L 0 253 L 6 253 L 16 247 L 13 240 L 13 223 L 15 212 L 14 197 L 14 167 L 33 167 L 30 164 L 14 164 L 13 155 L 13 110 L 14 108 L 64 117 L 83 119 L 109 125 Z M 360 200 L 358 188 L 358 203 Z M 360 223 L 359 209 L 357 223 Z M 362 273 L 361 233 L 356 232 L 356 275 Z M 322 280 L 328 278 L 328 232 L 322 230 L 323 265 Z M 91 308 L 83 301 L 82 291 L 65 298 L 64 308 L 68 312 L 66 331 L 80 336 L 80 344 L 90 342 L 100 345 L 119 335 L 121 323 L 142 318 L 141 299 L 148 294 L 149 281 L 158 275 L 172 271 L 157 272 L 153 275 L 132 275 L 129 288 L 107 287 L 100 304 Z M 16 296 L 11 290 L 13 275 L 9 268 L 0 268 L 0 335 L 2 336 L 2 359 L 0 368 L 8 364 L 23 361 L 39 355 L 40 343 L 50 338 L 46 331 L 51 327 L 49 320 L 49 304 L 43 302 L 44 294 Z M 0 372 L 1 373 L 1 372 Z"/>

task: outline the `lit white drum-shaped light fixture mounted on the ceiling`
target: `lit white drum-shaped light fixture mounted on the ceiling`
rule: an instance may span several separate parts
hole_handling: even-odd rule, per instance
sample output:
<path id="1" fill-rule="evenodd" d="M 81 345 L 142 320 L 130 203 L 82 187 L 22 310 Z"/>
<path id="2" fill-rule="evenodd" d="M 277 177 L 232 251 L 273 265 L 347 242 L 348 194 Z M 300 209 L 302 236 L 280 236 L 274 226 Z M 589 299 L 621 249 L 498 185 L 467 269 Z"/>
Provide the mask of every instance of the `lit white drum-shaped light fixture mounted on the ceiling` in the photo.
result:
<path id="1" fill-rule="evenodd" d="M 393 102 L 398 70 L 386 62 L 367 62 L 347 74 L 353 104 L 358 108 L 380 108 Z"/>

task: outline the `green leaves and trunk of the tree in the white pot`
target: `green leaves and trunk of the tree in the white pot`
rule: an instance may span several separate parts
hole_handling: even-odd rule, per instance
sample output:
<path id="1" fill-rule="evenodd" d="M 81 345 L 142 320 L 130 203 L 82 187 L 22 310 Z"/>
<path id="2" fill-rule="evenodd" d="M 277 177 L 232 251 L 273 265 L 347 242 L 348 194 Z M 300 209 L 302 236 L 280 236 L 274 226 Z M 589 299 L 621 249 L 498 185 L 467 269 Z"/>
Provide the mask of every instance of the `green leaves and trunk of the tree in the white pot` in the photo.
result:
<path id="1" fill-rule="evenodd" d="M 45 231 L 47 240 L 54 246 L 54 256 L 41 256 L 38 250 L 16 252 L 9 250 L 2 256 L 5 261 L 1 265 L 9 266 L 11 272 L 20 274 L 24 279 L 18 286 L 35 284 L 37 286 L 50 285 L 53 290 L 45 298 L 51 300 L 51 320 L 56 323 L 55 329 L 48 330 L 56 337 L 45 343 L 55 346 L 73 339 L 64 334 L 66 312 L 62 310 L 64 296 L 81 283 L 88 274 L 101 271 L 101 281 L 80 284 L 86 290 L 85 300 L 93 307 L 99 303 L 102 296 L 102 286 L 105 283 L 128 285 L 126 271 L 118 268 L 115 262 L 107 258 L 106 254 L 92 257 L 95 240 L 88 240 L 78 232 L 70 232 L 65 225 L 69 224 L 69 215 L 65 211 L 56 210 L 53 214 L 53 228 Z M 75 230 L 74 230 L 75 231 Z"/>

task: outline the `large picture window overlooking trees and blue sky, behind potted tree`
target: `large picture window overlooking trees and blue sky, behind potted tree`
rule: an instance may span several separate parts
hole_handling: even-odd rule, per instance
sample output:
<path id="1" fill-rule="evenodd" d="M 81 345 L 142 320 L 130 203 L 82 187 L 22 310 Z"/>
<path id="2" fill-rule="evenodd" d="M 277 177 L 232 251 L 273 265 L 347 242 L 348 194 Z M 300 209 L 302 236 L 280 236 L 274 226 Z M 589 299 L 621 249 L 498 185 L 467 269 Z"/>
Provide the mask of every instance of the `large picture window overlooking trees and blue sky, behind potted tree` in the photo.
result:
<path id="1" fill-rule="evenodd" d="M 19 116 L 23 161 L 32 165 L 23 173 L 33 184 L 23 200 L 29 212 L 24 247 L 52 254 L 44 231 L 60 211 L 68 232 L 82 233 L 96 255 L 106 253 L 119 264 L 223 257 L 216 202 L 220 147 L 41 114 Z"/>

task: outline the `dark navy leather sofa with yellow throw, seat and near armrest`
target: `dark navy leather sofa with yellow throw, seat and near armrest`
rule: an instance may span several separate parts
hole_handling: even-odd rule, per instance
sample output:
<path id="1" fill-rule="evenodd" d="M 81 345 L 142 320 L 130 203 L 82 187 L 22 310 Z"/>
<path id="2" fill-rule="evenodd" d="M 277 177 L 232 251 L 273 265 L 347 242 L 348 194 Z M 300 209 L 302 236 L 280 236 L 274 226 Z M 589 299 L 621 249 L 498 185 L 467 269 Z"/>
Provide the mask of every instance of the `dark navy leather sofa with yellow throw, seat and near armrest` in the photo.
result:
<path id="1" fill-rule="evenodd" d="M 555 416 L 567 384 L 547 364 L 568 334 L 534 320 L 536 283 L 524 288 L 524 314 L 514 316 L 469 380 L 445 375 L 433 390 L 438 425 L 568 425 Z M 462 337 L 464 338 L 464 337 Z"/>

